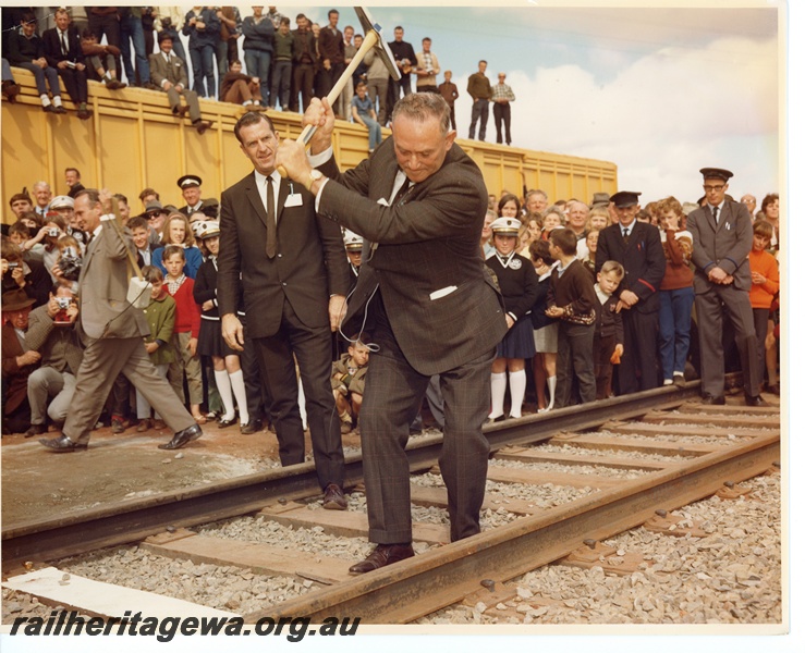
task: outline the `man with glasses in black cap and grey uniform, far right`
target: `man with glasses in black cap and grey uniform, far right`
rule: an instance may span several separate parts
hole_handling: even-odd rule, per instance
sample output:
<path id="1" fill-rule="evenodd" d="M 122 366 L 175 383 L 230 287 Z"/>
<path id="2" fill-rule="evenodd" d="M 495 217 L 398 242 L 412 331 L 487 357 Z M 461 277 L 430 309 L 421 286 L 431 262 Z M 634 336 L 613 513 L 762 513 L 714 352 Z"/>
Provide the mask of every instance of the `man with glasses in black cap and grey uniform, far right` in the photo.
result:
<path id="1" fill-rule="evenodd" d="M 747 406 L 765 406 L 761 370 L 749 303 L 752 215 L 745 205 L 725 198 L 729 170 L 703 168 L 706 204 L 687 217 L 693 236 L 693 287 L 702 350 L 702 396 L 705 404 L 724 404 L 722 319 L 725 309 L 735 331 Z"/>

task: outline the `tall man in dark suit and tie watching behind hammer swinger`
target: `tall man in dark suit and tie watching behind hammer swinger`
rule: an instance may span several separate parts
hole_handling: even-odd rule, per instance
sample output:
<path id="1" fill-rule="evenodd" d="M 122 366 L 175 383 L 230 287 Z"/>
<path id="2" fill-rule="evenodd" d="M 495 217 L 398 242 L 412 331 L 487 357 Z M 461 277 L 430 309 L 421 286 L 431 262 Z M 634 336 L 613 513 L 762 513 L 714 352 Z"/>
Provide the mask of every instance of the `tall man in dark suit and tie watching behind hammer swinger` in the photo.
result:
<path id="1" fill-rule="evenodd" d="M 345 510 L 341 424 L 330 386 L 331 332 L 350 287 L 341 230 L 316 215 L 302 184 L 280 177 L 279 139 L 268 116 L 246 113 L 234 132 L 255 170 L 221 195 L 221 331 L 230 347 L 243 349 L 236 316 L 242 280 L 246 328 L 271 393 L 280 460 L 305 459 L 295 357 L 324 506 Z"/>

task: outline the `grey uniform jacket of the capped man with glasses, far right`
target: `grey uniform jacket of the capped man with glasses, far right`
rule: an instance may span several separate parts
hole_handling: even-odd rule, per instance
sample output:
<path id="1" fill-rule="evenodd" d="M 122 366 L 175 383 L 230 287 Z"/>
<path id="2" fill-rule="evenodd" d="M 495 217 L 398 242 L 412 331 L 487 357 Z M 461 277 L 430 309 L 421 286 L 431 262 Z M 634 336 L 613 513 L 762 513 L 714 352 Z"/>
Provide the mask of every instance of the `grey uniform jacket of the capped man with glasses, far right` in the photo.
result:
<path id="1" fill-rule="evenodd" d="M 712 287 L 707 273 L 718 266 L 735 278 L 741 291 L 752 288 L 749 251 L 752 250 L 752 215 L 741 202 L 725 200 L 718 219 L 718 230 L 709 207 L 696 209 L 687 217 L 687 231 L 693 236 L 693 286 L 696 294 Z"/>

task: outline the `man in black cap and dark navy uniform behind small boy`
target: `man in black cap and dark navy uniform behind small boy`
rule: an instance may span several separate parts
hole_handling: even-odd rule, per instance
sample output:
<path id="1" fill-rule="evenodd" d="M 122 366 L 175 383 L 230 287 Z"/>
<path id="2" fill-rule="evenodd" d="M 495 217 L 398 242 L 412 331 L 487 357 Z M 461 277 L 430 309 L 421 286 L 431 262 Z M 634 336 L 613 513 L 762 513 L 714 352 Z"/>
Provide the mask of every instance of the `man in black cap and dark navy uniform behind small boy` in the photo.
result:
<path id="1" fill-rule="evenodd" d="M 639 193 L 621 190 L 611 197 L 618 213 L 598 236 L 596 272 L 607 261 L 618 261 L 626 274 L 615 291 L 618 311 L 623 318 L 623 356 L 618 369 L 619 394 L 651 390 L 659 384 L 657 373 L 658 289 L 666 274 L 666 255 L 660 232 L 635 218 Z"/>

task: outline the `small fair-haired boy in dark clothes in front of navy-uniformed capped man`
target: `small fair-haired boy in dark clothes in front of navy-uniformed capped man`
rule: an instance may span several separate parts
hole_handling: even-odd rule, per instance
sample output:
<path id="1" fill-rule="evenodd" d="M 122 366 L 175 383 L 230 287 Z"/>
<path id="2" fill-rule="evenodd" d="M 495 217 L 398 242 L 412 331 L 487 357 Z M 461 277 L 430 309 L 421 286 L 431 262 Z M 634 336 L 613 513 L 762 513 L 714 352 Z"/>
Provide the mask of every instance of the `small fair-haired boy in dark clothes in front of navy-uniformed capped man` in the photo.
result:
<path id="1" fill-rule="evenodd" d="M 623 320 L 613 295 L 625 274 L 618 261 L 606 261 L 597 274 L 594 286 L 599 306 L 596 311 L 596 335 L 593 338 L 595 353 L 596 399 L 606 399 L 612 394 L 612 365 L 623 355 Z"/>

